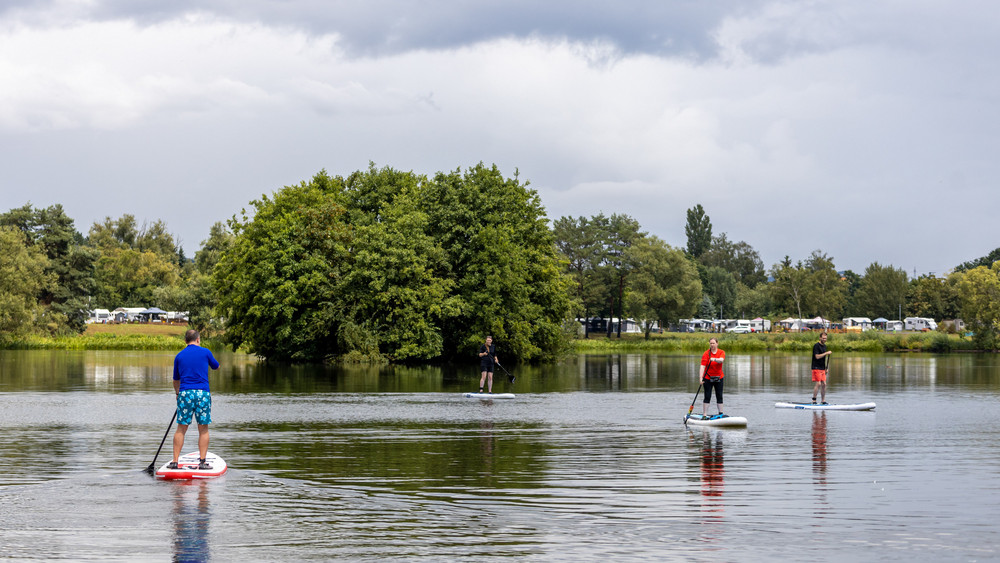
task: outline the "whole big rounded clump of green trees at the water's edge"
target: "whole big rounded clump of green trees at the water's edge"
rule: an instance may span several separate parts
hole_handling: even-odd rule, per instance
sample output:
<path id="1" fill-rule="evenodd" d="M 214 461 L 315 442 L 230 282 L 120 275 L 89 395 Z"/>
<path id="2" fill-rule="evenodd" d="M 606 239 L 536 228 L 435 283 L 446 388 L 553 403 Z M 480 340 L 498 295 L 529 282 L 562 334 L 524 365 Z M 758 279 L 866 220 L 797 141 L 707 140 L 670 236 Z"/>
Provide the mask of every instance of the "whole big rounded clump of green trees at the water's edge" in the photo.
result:
<path id="1" fill-rule="evenodd" d="M 213 271 L 237 346 L 269 359 L 522 359 L 564 346 L 570 281 L 537 194 L 483 165 L 389 168 L 286 187 L 234 218 Z"/>

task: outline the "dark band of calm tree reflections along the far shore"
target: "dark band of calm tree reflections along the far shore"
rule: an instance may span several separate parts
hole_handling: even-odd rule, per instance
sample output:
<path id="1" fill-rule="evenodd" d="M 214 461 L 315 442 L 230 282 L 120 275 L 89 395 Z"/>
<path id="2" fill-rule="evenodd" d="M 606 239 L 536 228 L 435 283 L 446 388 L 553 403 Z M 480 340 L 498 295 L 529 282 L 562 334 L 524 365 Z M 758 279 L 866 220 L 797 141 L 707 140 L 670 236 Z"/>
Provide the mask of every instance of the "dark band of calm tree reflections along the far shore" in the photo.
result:
<path id="1" fill-rule="evenodd" d="M 170 390 L 173 352 L 0 351 L 0 391 Z M 436 366 L 328 366 L 264 363 L 253 356 L 219 351 L 222 368 L 211 374 L 213 392 L 268 393 L 429 393 L 464 392 L 478 384 L 479 372 L 465 363 Z M 992 355 L 842 354 L 830 365 L 832 391 L 913 385 L 954 387 L 974 379 L 1000 384 Z M 730 354 L 727 389 L 811 387 L 808 354 Z M 498 391 L 634 391 L 689 389 L 697 385 L 698 357 L 692 354 L 584 354 L 556 365 L 511 365 L 517 381 L 501 377 Z"/>

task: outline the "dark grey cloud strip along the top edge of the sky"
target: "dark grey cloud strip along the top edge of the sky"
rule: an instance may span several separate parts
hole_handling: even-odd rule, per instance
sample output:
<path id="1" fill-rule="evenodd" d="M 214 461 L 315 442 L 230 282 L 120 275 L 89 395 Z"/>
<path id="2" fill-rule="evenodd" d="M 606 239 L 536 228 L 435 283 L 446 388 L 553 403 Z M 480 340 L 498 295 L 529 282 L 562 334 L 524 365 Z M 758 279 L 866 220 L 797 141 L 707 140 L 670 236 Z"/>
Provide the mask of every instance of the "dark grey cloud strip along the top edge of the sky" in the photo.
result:
<path id="1" fill-rule="evenodd" d="M 40 18 L 169 20 L 207 12 L 238 21 L 336 33 L 355 56 L 420 49 L 449 49 L 502 37 L 606 41 L 624 53 L 708 59 L 716 56 L 712 34 L 727 16 L 764 5 L 761 0 L 713 2 L 619 2 L 553 0 L 98 0 L 66 14 L 54 0 L 5 3 L 0 14 Z M 44 14 L 44 15 L 43 15 Z"/>

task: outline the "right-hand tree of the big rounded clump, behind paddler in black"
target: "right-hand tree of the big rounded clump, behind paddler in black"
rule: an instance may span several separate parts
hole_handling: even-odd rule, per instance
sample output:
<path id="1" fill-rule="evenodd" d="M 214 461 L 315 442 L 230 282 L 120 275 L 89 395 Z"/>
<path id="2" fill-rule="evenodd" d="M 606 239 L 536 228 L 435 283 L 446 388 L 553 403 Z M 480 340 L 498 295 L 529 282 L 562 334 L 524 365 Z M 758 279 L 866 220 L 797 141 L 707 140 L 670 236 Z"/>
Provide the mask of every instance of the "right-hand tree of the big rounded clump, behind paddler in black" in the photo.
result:
<path id="1" fill-rule="evenodd" d="M 519 358 L 563 351 L 573 282 L 538 193 L 516 173 L 505 178 L 483 164 L 438 173 L 420 192 L 428 231 L 455 280 L 458 314 L 442 325 L 445 353 L 474 354 L 487 334 Z"/>

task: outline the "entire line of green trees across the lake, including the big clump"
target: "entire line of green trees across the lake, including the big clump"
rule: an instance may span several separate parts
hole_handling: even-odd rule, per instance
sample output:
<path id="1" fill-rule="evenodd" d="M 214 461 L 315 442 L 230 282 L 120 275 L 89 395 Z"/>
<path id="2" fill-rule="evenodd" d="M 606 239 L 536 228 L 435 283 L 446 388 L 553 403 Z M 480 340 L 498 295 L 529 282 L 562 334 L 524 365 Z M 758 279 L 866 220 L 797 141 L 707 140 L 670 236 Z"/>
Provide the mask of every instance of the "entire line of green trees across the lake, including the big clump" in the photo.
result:
<path id="1" fill-rule="evenodd" d="M 84 235 L 60 205 L 0 214 L 0 337 L 79 333 L 88 310 L 154 305 L 288 361 L 465 357 L 486 334 L 545 359 L 590 317 L 632 318 L 647 336 L 689 317 L 960 317 L 989 348 L 1000 326 L 1000 249 L 943 278 L 838 271 L 821 250 L 765 267 L 700 204 L 683 248 L 625 214 L 550 226 L 537 192 L 483 164 L 321 171 L 250 207 L 191 258 L 163 221 L 106 217 Z"/>

